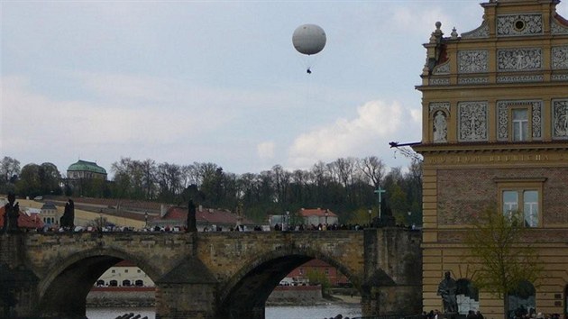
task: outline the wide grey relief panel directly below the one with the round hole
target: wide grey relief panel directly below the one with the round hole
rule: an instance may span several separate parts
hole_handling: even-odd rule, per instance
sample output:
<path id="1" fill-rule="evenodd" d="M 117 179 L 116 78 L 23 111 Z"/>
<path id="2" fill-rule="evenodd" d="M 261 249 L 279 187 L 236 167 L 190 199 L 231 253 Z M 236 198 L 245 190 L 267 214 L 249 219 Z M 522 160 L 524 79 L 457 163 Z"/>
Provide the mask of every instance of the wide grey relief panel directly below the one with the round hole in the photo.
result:
<path id="1" fill-rule="evenodd" d="M 497 50 L 499 71 L 530 71 L 543 67 L 543 52 L 540 48 Z"/>

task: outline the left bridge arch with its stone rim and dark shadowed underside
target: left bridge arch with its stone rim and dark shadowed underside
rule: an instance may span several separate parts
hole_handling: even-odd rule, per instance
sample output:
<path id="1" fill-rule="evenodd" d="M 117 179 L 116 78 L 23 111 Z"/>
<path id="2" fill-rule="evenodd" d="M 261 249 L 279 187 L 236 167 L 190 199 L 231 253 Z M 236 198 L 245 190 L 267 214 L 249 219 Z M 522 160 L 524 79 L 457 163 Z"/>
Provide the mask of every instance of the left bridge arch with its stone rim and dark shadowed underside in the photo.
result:
<path id="1" fill-rule="evenodd" d="M 86 299 L 93 283 L 106 269 L 121 260 L 130 260 L 152 280 L 160 278 L 160 270 L 144 256 L 117 250 L 96 248 L 78 251 L 57 262 L 39 283 L 38 311 L 41 315 L 57 314 L 63 317 L 84 317 Z"/>

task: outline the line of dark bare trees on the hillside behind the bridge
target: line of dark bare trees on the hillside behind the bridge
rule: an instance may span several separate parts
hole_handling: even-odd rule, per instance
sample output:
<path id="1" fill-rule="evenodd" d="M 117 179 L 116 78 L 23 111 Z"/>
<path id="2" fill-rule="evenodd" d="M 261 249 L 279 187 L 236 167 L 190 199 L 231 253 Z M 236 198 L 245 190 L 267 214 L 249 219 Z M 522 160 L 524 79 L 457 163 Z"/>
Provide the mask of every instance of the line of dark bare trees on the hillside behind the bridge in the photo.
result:
<path id="1" fill-rule="evenodd" d="M 157 163 L 155 160 L 121 158 L 110 171 L 112 179 L 70 180 L 52 163 L 0 161 L 0 194 L 17 196 L 89 196 L 156 201 L 187 205 L 192 189 L 203 194 L 202 205 L 243 213 L 262 223 L 268 214 L 297 212 L 300 208 L 326 208 L 339 215 L 341 223 L 368 223 L 377 215 L 378 188 L 382 214 L 392 214 L 397 223 L 419 224 L 422 220 L 422 163 L 413 160 L 408 169 L 388 168 L 375 156 L 319 161 L 311 169 L 287 170 L 275 165 L 260 173 L 234 174 L 215 163 L 188 165 Z M 371 212 L 371 214 L 370 214 Z"/>

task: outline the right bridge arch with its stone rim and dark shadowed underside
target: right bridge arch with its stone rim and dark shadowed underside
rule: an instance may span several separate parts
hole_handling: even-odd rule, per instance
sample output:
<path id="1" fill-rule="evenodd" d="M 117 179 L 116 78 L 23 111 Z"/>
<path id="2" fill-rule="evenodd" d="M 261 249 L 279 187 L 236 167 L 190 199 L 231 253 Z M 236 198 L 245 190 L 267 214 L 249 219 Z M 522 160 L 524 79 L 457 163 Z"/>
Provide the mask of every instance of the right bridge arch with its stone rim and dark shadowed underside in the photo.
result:
<path id="1" fill-rule="evenodd" d="M 343 262 L 307 247 L 281 247 L 261 254 L 221 287 L 219 296 L 222 317 L 263 318 L 264 306 L 281 278 L 309 260 L 323 260 L 341 271 L 353 286 L 361 289 L 361 275 L 353 273 Z"/>

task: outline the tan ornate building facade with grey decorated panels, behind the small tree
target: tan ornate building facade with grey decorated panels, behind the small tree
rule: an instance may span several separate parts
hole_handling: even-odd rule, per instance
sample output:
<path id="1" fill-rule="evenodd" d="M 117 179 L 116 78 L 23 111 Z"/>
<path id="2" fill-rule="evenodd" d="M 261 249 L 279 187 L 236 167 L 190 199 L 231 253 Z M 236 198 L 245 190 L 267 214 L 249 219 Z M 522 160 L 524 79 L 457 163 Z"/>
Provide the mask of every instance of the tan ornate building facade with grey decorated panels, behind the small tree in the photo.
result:
<path id="1" fill-rule="evenodd" d="M 518 211 L 544 271 L 514 307 L 568 314 L 568 21 L 558 0 L 491 0 L 481 26 L 424 46 L 423 299 L 442 309 L 449 271 L 471 284 L 476 265 L 463 245 L 472 216 L 489 206 Z M 502 318 L 503 300 L 458 292 L 460 313 Z"/>

